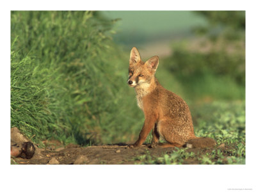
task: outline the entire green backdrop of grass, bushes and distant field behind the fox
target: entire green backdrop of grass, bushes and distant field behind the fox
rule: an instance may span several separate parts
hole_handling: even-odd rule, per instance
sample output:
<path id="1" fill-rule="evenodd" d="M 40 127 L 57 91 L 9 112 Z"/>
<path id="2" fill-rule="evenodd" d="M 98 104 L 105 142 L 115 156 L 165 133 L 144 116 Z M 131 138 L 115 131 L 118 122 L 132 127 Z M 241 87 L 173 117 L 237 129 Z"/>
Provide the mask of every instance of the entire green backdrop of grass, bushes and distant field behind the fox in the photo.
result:
<path id="1" fill-rule="evenodd" d="M 196 136 L 245 140 L 243 11 L 15 11 L 11 45 L 11 125 L 40 146 L 136 141 L 134 46 L 159 56 L 156 77 L 186 100 Z"/>

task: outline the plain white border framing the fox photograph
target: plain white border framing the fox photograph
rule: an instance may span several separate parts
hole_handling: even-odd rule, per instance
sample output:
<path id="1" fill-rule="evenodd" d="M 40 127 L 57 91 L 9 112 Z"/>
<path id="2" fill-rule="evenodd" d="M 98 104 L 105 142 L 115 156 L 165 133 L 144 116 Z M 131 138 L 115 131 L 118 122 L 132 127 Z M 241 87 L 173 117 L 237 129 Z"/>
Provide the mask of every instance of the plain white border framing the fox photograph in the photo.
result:
<path id="1" fill-rule="evenodd" d="M 246 10 L 246 165 L 10 165 L 10 10 Z M 1 188 L 10 191 L 255 191 L 253 1 L 8 1 L 1 6 Z M 6 147 L 7 146 L 7 147 Z M 3 161 L 3 156 L 7 158 Z M 29 188 L 26 185 L 29 183 Z"/>

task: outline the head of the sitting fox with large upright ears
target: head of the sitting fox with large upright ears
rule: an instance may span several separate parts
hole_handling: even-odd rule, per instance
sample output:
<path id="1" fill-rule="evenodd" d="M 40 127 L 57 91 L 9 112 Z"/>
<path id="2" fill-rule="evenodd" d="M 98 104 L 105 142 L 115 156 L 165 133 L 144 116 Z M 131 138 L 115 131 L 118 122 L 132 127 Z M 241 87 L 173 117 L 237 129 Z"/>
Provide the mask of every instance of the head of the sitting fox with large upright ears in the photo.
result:
<path id="1" fill-rule="evenodd" d="M 133 47 L 129 60 L 129 79 L 127 81 L 129 86 L 136 87 L 150 84 L 154 78 L 158 63 L 158 56 L 153 56 L 144 63 L 141 61 L 138 49 Z"/>

